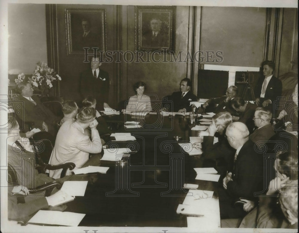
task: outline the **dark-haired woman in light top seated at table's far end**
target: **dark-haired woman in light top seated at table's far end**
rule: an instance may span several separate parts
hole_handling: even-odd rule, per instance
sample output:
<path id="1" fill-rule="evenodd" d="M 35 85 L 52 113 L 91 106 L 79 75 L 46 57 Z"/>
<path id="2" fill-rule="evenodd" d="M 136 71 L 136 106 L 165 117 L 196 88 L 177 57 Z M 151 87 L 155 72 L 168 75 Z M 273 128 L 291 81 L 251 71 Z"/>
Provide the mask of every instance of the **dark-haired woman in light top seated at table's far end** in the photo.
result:
<path id="1" fill-rule="evenodd" d="M 129 98 L 129 103 L 126 107 L 131 112 L 150 112 L 152 106 L 148 95 L 144 95 L 143 92 L 146 89 L 144 82 L 137 82 L 133 85 L 133 89 L 136 95 Z"/>

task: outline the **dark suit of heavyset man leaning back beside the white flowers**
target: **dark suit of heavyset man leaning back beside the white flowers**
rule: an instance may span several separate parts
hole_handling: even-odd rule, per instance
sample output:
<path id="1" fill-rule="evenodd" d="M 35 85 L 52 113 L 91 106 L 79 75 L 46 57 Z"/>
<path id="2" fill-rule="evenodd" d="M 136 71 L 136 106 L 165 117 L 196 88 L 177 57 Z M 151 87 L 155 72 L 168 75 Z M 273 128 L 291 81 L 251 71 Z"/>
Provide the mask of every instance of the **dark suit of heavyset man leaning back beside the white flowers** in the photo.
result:
<path id="1" fill-rule="evenodd" d="M 23 122 L 32 121 L 34 123 L 33 127 L 39 128 L 41 130 L 42 123 L 45 122 L 48 125 L 48 132 L 54 136 L 54 126 L 56 126 L 60 119 L 57 118 L 47 107 L 45 107 L 36 95 L 31 96 L 31 98 L 36 102 L 36 105 L 34 105 L 33 102 L 26 99 L 24 96 L 19 95 L 19 101 L 24 103 L 24 109 L 18 108 L 19 101 L 13 102 L 16 115 Z M 20 111 L 18 111 L 18 109 Z M 26 125 L 24 127 L 26 127 Z M 25 128 L 24 131 L 27 132 L 30 130 Z"/>

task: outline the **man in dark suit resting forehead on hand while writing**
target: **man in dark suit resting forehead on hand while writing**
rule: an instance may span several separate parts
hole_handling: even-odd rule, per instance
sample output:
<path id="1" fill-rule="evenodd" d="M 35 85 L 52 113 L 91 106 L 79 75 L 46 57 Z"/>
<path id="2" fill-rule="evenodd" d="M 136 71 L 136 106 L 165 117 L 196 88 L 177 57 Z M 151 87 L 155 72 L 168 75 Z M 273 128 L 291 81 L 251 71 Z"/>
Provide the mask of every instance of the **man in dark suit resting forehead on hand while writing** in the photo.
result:
<path id="1" fill-rule="evenodd" d="M 204 136 L 202 142 L 202 156 L 201 159 L 204 160 L 214 160 L 224 159 L 225 161 L 225 171 L 231 170 L 234 160 L 234 154 L 236 150 L 232 148 L 229 144 L 225 135 L 226 127 L 233 122 L 232 116 L 229 112 L 219 112 L 212 118 L 212 124 L 208 128 L 209 135 Z M 213 145 L 215 134 L 219 135 L 218 142 Z M 196 146 L 195 146 L 196 148 Z M 228 169 L 228 167 L 231 167 Z M 220 173 L 220 171 L 218 171 Z"/>

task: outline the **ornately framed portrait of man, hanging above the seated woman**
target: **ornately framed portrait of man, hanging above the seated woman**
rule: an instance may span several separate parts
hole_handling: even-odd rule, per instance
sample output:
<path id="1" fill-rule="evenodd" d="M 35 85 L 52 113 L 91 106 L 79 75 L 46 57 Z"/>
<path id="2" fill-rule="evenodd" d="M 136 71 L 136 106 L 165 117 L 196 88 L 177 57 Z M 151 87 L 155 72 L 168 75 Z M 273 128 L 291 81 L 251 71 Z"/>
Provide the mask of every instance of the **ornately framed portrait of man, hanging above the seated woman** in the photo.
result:
<path id="1" fill-rule="evenodd" d="M 135 6 L 135 50 L 175 52 L 176 6 Z"/>

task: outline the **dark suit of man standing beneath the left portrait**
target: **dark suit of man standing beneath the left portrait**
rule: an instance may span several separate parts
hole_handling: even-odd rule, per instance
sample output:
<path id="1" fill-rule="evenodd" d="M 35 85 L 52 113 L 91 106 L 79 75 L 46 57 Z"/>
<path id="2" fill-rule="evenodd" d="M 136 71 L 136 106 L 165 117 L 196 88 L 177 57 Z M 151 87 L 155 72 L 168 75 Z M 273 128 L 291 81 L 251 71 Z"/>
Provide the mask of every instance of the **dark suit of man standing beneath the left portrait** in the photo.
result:
<path id="1" fill-rule="evenodd" d="M 99 75 L 94 78 L 91 68 L 81 73 L 80 93 L 82 98 L 91 95 L 97 100 L 97 107 L 103 108 L 103 103 L 109 100 L 109 74 L 99 69 Z"/>

